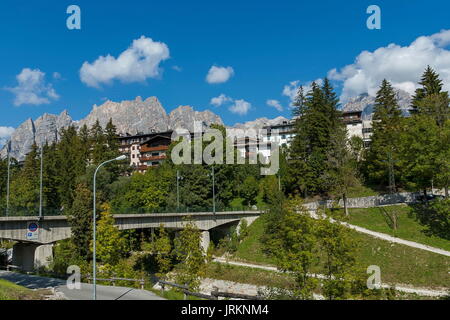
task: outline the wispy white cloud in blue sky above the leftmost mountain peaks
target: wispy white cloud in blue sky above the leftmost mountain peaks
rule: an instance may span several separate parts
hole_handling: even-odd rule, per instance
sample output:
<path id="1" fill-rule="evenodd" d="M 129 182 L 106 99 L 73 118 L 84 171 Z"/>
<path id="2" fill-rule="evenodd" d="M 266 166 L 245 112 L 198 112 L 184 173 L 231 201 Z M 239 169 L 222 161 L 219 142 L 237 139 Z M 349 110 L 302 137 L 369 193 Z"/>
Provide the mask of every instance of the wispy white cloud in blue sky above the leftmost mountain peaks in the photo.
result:
<path id="1" fill-rule="evenodd" d="M 59 98 L 53 86 L 45 82 L 45 73 L 39 69 L 24 68 L 16 79 L 18 83 L 16 87 L 6 88 L 16 95 L 15 106 L 48 104 L 50 100 Z"/>

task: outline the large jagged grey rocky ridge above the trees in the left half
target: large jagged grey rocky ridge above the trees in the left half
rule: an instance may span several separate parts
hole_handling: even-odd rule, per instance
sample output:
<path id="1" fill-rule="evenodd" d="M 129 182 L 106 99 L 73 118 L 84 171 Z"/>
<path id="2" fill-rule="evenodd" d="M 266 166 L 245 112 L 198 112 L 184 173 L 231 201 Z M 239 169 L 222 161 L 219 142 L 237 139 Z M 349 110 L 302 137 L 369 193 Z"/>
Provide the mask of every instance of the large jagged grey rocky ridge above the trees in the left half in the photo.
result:
<path id="1" fill-rule="evenodd" d="M 112 119 L 119 134 L 149 133 L 167 131 L 176 127 L 193 130 L 194 120 L 209 126 L 212 123 L 223 124 L 222 119 L 213 112 L 195 111 L 190 106 L 180 106 L 167 115 L 158 98 L 148 97 L 143 100 L 138 96 L 134 100 L 114 102 L 105 101 L 102 105 L 94 105 L 86 118 L 73 121 L 67 110 L 59 115 L 44 113 L 36 120 L 27 119 L 11 135 L 11 156 L 23 160 L 34 142 L 38 145 L 52 143 L 59 139 L 63 128 L 71 125 L 81 128 L 92 127 L 98 120 L 106 127 Z M 0 157 L 7 156 L 6 147 L 0 151 Z"/>

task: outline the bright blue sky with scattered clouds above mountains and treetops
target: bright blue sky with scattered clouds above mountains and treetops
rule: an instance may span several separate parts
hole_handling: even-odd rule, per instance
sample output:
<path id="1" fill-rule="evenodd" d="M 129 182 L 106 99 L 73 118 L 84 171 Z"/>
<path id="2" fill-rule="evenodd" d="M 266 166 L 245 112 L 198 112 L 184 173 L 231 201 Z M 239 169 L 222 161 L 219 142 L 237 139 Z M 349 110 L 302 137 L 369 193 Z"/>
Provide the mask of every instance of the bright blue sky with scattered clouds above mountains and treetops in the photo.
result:
<path id="1" fill-rule="evenodd" d="M 71 4 L 81 8 L 81 30 L 66 27 Z M 372 4 L 381 8 L 381 30 L 366 27 Z M 168 112 L 191 105 L 233 124 L 289 117 L 289 89 L 327 75 L 343 99 L 373 93 L 383 77 L 411 91 L 426 64 L 443 73 L 447 83 L 450 34 L 441 30 L 450 29 L 449 11 L 448 1 L 431 0 L 3 0 L 0 136 L 1 128 L 17 127 L 44 112 L 67 109 L 74 119 L 83 118 L 106 98 L 157 96 Z M 156 65 L 144 66 L 139 78 L 117 59 L 141 36 L 144 46 L 167 52 L 147 57 Z M 420 36 L 426 37 L 413 45 Z M 390 43 L 397 47 L 375 51 Z M 111 74 L 103 72 L 107 64 L 95 65 L 108 54 Z M 141 58 L 135 68 L 146 63 Z M 90 80 L 82 81 L 85 62 Z M 212 77 L 220 83 L 206 81 L 213 66 L 222 72 Z M 27 81 L 34 81 L 31 89 Z M 211 104 L 220 95 L 218 106 Z M 276 103 L 269 106 L 268 100 Z"/>

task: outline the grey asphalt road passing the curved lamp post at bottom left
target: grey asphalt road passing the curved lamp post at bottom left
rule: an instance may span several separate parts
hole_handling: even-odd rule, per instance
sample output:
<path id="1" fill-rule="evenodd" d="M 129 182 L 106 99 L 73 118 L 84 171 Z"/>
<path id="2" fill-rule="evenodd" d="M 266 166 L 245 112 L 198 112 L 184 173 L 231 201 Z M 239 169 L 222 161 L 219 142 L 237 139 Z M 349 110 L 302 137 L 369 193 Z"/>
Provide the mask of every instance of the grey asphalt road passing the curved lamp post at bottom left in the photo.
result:
<path id="1" fill-rule="evenodd" d="M 80 289 L 68 289 L 65 280 L 0 271 L 0 279 L 14 282 L 29 289 L 55 288 L 68 300 L 92 300 L 93 286 L 82 283 Z M 97 285 L 97 300 L 165 300 L 151 291 L 126 287 Z"/>

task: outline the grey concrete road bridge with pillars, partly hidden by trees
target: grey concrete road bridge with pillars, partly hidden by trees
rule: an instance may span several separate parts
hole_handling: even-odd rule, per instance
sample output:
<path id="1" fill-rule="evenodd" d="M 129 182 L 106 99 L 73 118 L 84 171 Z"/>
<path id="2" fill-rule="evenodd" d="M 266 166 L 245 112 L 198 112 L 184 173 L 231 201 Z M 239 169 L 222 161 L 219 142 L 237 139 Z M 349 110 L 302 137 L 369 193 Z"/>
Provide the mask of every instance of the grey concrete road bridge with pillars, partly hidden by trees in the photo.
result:
<path id="1" fill-rule="evenodd" d="M 202 232 L 202 246 L 207 248 L 211 229 L 239 224 L 243 219 L 251 224 L 259 215 L 261 211 L 152 213 L 117 214 L 114 219 L 119 230 L 159 228 L 161 224 L 168 229 L 180 230 L 186 224 L 184 218 L 190 216 Z M 66 216 L 46 216 L 42 219 L 35 216 L 0 217 L 0 239 L 18 241 L 13 248 L 13 265 L 25 271 L 48 265 L 53 256 L 53 244 L 70 236 Z"/>

